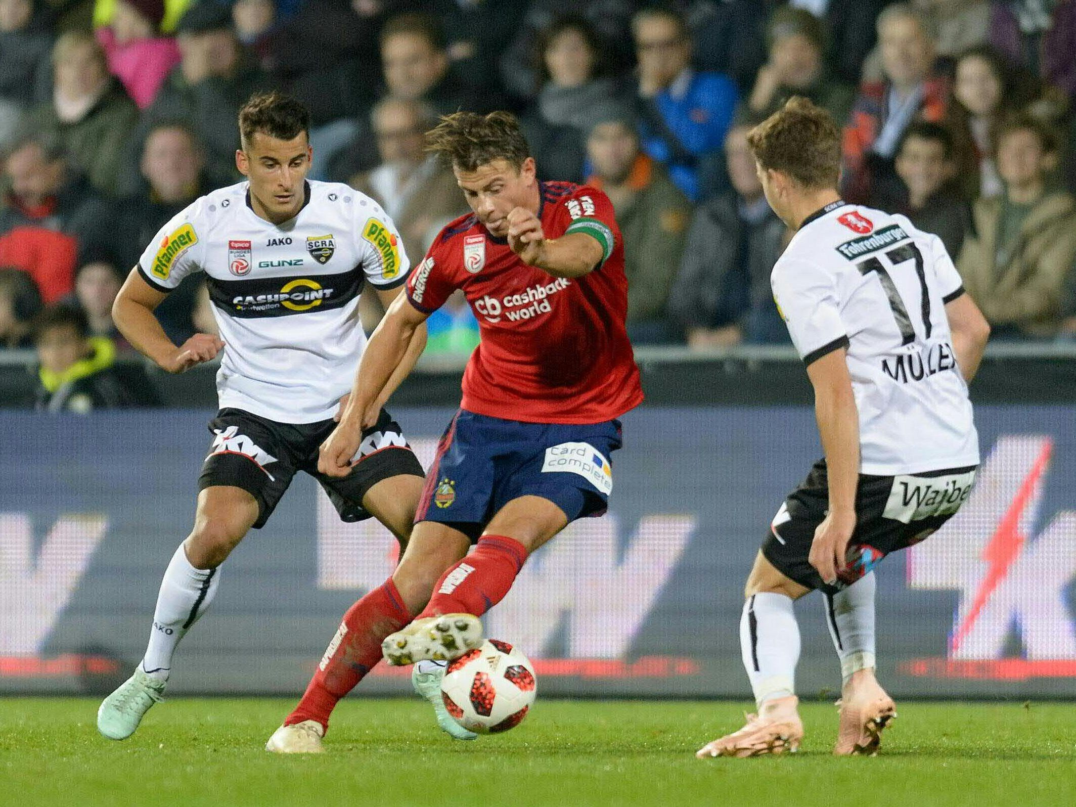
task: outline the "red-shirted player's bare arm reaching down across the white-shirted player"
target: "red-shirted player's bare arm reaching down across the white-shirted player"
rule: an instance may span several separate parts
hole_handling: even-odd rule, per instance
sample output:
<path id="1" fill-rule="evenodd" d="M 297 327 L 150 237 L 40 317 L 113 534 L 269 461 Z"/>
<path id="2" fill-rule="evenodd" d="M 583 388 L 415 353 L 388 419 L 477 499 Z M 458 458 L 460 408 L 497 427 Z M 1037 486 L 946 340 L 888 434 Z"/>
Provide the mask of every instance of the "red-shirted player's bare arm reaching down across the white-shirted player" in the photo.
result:
<path id="1" fill-rule="evenodd" d="M 412 344 L 417 339 L 416 331 L 425 328 L 426 316 L 411 305 L 405 294 L 398 295 L 388 307 L 363 352 L 351 396 L 340 414 L 340 423 L 318 451 L 317 470 L 322 473 L 345 477 L 351 471 L 351 461 L 358 451 L 363 429 L 378 422 L 384 391 L 395 379 L 397 368 L 413 350 Z M 419 341 L 421 353 L 425 339 Z M 412 362 L 411 366 L 413 365 Z M 396 383 L 402 381 L 405 376 L 406 373 L 400 376 Z"/>

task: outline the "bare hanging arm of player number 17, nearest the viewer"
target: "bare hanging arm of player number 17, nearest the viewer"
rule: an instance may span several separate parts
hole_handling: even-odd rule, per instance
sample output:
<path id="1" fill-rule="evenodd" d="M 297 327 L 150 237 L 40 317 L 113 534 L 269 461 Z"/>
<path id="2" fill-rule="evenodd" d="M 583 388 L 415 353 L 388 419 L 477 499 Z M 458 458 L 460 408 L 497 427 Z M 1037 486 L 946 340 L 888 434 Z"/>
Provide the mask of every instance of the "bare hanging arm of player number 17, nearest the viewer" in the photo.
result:
<path id="1" fill-rule="evenodd" d="M 845 567 L 860 480 L 860 420 L 845 356 L 844 349 L 832 351 L 807 367 L 830 487 L 830 510 L 815 530 L 809 560 L 825 582 Z"/>

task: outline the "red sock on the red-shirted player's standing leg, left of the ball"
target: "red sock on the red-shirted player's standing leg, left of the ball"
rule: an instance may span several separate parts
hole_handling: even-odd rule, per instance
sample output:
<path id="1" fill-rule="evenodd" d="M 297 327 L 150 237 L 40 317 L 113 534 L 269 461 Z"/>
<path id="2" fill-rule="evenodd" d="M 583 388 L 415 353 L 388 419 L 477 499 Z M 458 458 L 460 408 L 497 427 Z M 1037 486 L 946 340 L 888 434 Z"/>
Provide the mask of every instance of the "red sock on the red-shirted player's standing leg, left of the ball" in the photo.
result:
<path id="1" fill-rule="evenodd" d="M 326 730 L 337 703 L 381 661 L 381 642 L 411 621 L 392 578 L 343 615 L 302 699 L 284 725 L 315 720 Z"/>

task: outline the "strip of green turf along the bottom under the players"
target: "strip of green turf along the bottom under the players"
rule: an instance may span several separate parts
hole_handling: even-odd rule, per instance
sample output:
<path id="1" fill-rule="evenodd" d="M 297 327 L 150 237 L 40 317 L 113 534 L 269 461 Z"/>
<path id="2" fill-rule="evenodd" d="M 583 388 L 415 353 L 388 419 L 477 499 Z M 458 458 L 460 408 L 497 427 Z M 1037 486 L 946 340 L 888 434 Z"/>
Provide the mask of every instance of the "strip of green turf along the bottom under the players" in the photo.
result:
<path id="1" fill-rule="evenodd" d="M 539 700 L 519 728 L 450 740 L 419 700 L 344 702 L 321 756 L 263 745 L 292 702 L 175 699 L 129 740 L 97 702 L 0 699 L 0 805 L 1076 805 L 1076 705 L 900 704 L 875 759 L 833 759 L 807 704 L 795 756 L 694 759 L 741 705 Z"/>

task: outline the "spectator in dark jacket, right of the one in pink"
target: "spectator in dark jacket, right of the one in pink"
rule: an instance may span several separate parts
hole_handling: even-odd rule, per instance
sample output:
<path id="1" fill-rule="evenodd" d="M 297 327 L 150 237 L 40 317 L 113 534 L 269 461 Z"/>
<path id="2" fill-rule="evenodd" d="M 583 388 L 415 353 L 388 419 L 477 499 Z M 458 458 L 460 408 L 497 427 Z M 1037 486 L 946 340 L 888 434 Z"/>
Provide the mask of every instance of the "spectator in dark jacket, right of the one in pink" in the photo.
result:
<path id="1" fill-rule="evenodd" d="M 236 115 L 251 95 L 267 87 L 268 80 L 244 56 L 228 9 L 215 2 L 198 3 L 183 15 L 176 43 L 182 60 L 142 113 L 128 143 L 119 181 L 122 196 L 134 193 L 141 184 L 140 155 L 146 137 L 165 122 L 184 121 L 195 130 L 213 184 L 238 180 Z"/>

